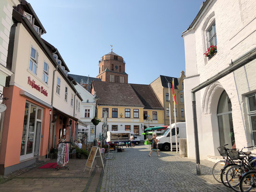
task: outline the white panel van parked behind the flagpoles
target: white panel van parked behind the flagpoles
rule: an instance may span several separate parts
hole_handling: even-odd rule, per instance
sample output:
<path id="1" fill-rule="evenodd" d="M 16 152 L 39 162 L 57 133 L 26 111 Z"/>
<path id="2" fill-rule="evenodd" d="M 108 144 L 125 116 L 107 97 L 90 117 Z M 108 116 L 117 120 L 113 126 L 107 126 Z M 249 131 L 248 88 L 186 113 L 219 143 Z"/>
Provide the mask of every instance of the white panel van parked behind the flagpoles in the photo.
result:
<path id="1" fill-rule="evenodd" d="M 179 138 L 187 138 L 186 135 L 186 122 L 178 122 L 177 125 L 177 139 L 179 145 Z M 171 141 L 170 141 L 170 127 L 168 127 L 161 136 L 157 137 L 158 140 L 158 149 L 161 151 L 170 151 L 172 141 L 172 148 L 176 149 L 176 140 L 175 140 L 175 123 L 171 124 Z"/>

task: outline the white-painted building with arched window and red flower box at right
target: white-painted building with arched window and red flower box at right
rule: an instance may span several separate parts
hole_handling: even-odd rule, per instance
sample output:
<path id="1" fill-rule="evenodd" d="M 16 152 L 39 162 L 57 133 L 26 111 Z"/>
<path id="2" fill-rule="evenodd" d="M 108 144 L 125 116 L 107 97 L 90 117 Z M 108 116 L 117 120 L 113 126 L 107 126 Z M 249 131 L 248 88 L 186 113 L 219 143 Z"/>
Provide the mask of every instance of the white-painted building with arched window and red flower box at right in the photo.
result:
<path id="1" fill-rule="evenodd" d="M 188 158 L 195 158 L 191 90 L 212 79 L 195 93 L 200 158 L 219 156 L 223 144 L 256 145 L 256 1 L 206 0 L 182 36 Z M 211 45 L 217 53 L 208 58 Z M 229 73 L 218 79 L 225 69 Z"/>

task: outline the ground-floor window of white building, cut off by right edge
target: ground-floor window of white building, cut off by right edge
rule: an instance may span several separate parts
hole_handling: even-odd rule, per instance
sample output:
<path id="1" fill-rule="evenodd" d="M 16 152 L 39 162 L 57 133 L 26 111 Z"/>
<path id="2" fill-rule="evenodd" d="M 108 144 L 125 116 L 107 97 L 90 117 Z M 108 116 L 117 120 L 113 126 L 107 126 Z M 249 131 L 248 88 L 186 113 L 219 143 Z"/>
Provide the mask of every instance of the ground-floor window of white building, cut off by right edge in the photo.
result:
<path id="1" fill-rule="evenodd" d="M 252 144 L 256 145 L 256 94 L 246 97 Z"/>

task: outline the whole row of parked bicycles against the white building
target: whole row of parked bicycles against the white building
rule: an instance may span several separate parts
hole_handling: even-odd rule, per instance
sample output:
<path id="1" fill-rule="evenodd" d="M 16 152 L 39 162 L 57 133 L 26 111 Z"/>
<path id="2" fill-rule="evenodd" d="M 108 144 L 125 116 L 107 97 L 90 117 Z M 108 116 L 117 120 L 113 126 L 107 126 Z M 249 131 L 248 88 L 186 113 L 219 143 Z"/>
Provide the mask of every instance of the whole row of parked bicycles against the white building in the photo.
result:
<path id="1" fill-rule="evenodd" d="M 212 168 L 214 179 L 236 192 L 256 192 L 256 157 L 251 151 L 243 151 L 254 146 L 237 150 L 226 145 L 218 147 L 223 160 Z"/>

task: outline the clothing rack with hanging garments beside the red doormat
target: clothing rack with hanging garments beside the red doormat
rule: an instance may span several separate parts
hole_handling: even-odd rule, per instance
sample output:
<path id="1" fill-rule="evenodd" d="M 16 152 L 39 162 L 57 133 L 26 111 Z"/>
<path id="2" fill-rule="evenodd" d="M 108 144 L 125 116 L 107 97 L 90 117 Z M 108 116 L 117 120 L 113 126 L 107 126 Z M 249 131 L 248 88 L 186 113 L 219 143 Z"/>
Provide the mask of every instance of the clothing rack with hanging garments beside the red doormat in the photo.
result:
<path id="1" fill-rule="evenodd" d="M 60 142 L 58 145 L 58 157 L 57 157 L 57 166 L 55 167 L 57 170 L 59 168 L 67 168 L 68 162 L 69 162 L 69 146 L 72 142 Z"/>

